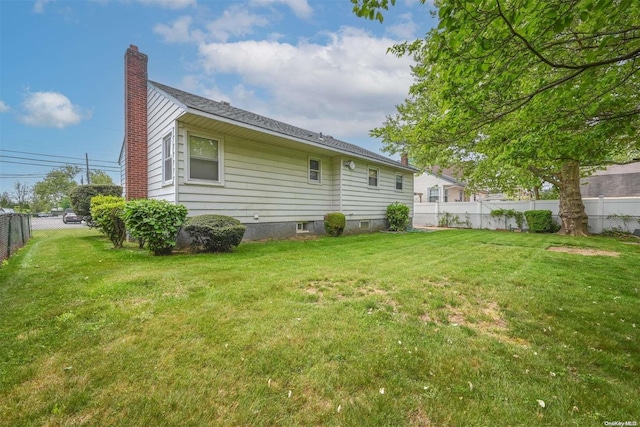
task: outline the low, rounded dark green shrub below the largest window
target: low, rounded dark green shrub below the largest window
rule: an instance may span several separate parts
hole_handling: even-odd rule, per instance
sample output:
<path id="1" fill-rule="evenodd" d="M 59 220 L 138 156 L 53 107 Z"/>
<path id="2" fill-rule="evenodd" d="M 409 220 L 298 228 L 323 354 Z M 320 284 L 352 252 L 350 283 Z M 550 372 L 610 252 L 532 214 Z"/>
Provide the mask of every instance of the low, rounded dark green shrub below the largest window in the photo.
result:
<path id="1" fill-rule="evenodd" d="M 235 218 L 224 215 L 198 215 L 187 218 L 184 230 L 192 248 L 204 252 L 230 252 L 242 241 L 247 229 Z"/>

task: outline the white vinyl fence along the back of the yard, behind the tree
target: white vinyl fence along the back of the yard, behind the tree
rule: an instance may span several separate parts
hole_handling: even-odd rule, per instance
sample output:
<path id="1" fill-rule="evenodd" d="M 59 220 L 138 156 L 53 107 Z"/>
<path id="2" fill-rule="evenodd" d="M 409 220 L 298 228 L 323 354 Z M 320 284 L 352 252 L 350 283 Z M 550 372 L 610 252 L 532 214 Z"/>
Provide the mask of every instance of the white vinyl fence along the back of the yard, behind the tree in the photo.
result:
<path id="1" fill-rule="evenodd" d="M 603 230 L 620 230 L 633 233 L 640 229 L 640 197 L 612 197 L 582 199 L 589 216 L 590 233 L 600 234 Z M 531 201 L 483 201 L 449 203 L 414 203 L 413 226 L 448 225 L 458 228 L 514 229 L 514 218 L 491 216 L 496 209 L 513 209 L 524 212 L 529 210 L 550 210 L 554 220 L 558 218 L 558 200 Z M 526 229 L 526 223 L 524 225 Z"/>

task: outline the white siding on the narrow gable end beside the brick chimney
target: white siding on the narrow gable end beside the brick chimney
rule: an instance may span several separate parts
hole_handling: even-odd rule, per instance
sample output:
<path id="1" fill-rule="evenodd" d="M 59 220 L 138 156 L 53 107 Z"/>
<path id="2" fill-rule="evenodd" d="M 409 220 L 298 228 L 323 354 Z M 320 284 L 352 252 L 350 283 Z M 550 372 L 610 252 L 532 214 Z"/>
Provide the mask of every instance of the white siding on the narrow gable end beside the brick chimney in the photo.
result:
<path id="1" fill-rule="evenodd" d="M 174 201 L 174 185 L 162 182 L 162 140 L 169 133 L 175 134 L 175 120 L 184 110 L 153 88 L 148 89 L 147 110 L 148 197 Z"/>

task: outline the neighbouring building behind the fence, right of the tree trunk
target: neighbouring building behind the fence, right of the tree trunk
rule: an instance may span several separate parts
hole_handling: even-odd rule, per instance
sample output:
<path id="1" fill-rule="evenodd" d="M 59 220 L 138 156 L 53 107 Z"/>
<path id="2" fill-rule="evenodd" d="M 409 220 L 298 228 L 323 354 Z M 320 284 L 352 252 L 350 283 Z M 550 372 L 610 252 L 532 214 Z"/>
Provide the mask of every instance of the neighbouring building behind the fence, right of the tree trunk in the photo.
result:
<path id="1" fill-rule="evenodd" d="M 640 161 L 609 166 L 580 184 L 582 197 L 640 197 Z"/>

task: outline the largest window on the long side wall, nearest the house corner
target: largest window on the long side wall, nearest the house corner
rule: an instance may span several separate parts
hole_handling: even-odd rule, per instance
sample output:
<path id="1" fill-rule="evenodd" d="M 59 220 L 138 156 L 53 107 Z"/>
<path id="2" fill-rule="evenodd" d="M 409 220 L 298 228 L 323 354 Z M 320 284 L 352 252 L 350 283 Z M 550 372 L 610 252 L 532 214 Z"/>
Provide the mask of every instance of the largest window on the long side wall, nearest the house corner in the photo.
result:
<path id="1" fill-rule="evenodd" d="M 221 183 L 221 142 L 189 134 L 189 180 Z"/>

